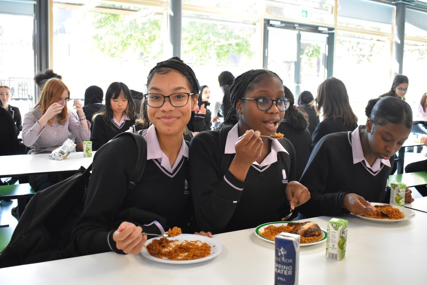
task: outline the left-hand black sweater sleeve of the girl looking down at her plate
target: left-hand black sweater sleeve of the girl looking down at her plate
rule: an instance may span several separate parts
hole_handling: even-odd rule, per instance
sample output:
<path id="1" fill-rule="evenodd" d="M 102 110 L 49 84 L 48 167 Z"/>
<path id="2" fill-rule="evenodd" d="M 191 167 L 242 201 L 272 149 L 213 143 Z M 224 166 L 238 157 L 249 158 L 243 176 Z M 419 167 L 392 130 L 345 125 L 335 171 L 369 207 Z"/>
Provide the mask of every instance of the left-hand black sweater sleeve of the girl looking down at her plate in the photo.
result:
<path id="1" fill-rule="evenodd" d="M 339 164 L 332 159 L 336 150 L 331 147 L 328 137 L 322 138 L 308 160 L 307 167 L 301 176 L 300 183 L 308 188 L 311 198 L 301 205 L 298 211 L 305 217 L 334 216 L 348 213 L 340 205 L 343 189 L 330 189 L 328 176 Z"/>

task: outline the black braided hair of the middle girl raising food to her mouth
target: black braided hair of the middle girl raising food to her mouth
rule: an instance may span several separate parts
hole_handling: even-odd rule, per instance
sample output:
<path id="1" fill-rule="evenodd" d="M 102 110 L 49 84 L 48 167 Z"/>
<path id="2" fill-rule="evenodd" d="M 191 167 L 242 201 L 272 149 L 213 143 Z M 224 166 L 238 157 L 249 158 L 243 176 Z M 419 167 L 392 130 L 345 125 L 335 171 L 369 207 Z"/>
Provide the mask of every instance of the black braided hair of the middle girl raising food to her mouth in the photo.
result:
<path id="1" fill-rule="evenodd" d="M 282 79 L 276 73 L 266 69 L 252 69 L 237 76 L 230 88 L 230 100 L 232 107 L 225 117 L 222 125 L 230 124 L 233 119 L 239 119 L 236 110 L 237 100 L 244 97 L 246 91 L 252 90 L 253 86 L 263 79 L 262 75 L 275 76 L 283 84 Z"/>

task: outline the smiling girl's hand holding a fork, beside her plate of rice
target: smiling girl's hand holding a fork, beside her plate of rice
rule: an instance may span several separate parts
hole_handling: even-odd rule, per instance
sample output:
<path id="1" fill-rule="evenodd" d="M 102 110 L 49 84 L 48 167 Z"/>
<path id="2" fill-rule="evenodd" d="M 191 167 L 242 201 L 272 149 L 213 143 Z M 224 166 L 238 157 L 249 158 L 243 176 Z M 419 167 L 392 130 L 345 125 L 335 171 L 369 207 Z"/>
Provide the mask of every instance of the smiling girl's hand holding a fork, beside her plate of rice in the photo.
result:
<path id="1" fill-rule="evenodd" d="M 139 254 L 147 241 L 146 235 L 141 235 L 142 228 L 133 223 L 123 222 L 113 233 L 116 247 L 124 253 Z"/>

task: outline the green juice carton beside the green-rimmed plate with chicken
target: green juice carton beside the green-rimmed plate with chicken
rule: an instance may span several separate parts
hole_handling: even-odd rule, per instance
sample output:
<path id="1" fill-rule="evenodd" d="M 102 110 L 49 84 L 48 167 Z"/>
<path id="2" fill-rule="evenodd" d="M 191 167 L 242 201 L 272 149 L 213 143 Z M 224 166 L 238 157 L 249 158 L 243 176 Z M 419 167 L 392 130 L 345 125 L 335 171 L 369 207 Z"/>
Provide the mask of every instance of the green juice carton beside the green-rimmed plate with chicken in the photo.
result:
<path id="1" fill-rule="evenodd" d="M 342 260 L 347 246 L 348 220 L 332 218 L 328 222 L 326 238 L 326 258 Z"/>

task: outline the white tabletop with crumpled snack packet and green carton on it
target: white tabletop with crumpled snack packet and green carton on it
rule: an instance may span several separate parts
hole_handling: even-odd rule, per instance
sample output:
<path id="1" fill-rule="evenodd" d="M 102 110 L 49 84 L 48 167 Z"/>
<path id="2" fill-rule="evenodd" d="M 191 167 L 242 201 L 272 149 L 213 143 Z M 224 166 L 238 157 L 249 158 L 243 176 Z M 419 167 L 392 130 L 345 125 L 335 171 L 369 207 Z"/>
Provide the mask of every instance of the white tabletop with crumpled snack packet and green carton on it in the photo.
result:
<path id="1" fill-rule="evenodd" d="M 0 177 L 76 171 L 80 166 L 87 168 L 92 163 L 95 153 L 96 151 L 92 152 L 91 157 L 84 157 L 83 152 L 74 152 L 64 160 L 49 159 L 49 153 L 0 156 Z"/>

